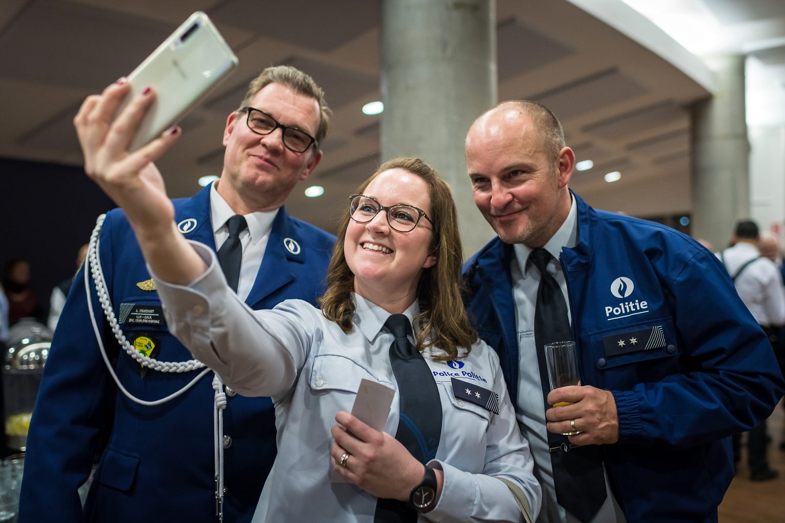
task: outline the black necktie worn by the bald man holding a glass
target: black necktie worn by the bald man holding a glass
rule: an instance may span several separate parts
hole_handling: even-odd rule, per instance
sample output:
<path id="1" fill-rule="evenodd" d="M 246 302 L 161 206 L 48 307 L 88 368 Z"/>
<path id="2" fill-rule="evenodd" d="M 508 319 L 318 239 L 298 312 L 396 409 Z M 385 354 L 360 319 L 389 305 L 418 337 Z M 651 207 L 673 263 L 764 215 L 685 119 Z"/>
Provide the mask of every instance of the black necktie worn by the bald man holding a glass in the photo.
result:
<path id="1" fill-rule="evenodd" d="M 529 255 L 529 260 L 540 273 L 535 309 L 535 343 L 546 409 L 550 409 L 547 401 L 550 385 L 544 347 L 554 341 L 572 340 L 564 294 L 556 279 L 546 271 L 552 259 L 553 256 L 545 249 L 535 249 Z M 548 446 L 552 449 L 550 461 L 557 501 L 579 521 L 591 521 L 607 496 L 600 449 L 597 445 L 570 449 L 567 436 L 551 432 L 548 432 Z"/>

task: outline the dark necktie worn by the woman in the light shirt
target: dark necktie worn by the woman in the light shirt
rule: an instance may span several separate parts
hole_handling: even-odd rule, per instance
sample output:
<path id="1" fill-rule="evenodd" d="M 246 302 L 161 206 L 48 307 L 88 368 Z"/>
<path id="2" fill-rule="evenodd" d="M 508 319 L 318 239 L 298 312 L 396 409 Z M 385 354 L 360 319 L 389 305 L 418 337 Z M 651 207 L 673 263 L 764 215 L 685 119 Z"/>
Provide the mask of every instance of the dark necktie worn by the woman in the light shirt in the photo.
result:
<path id="1" fill-rule="evenodd" d="M 420 463 L 425 464 L 436 457 L 441 438 L 439 389 L 422 354 L 407 338 L 411 332 L 409 318 L 403 314 L 392 314 L 385 321 L 385 327 L 395 336 L 389 353 L 400 398 L 400 419 L 395 438 Z M 380 498 L 374 521 L 414 522 L 417 521 L 417 512 L 397 499 Z"/>

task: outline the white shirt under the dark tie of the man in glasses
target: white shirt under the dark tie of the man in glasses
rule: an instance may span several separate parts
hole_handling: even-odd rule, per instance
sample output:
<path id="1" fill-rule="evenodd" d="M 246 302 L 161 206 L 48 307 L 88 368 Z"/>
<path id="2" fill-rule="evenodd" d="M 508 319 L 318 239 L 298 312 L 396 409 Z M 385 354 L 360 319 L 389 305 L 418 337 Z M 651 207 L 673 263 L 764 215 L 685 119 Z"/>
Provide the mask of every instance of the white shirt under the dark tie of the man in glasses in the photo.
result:
<path id="1" fill-rule="evenodd" d="M 213 183 L 210 187 L 210 221 L 213 223 L 216 250 L 221 249 L 221 245 L 224 245 L 224 242 L 229 238 L 226 222 L 237 214 L 221 197 L 221 194 L 218 194 L 217 183 Z M 270 239 L 272 221 L 276 219 L 278 210 L 251 212 L 243 215 L 248 223 L 248 228 L 243 229 L 239 234 L 240 245 L 243 246 L 243 257 L 240 261 L 240 279 L 237 285 L 237 296 L 242 300 L 248 297 L 250 289 L 254 287 L 259 267 L 261 267 L 261 259 L 265 256 L 267 241 Z"/>

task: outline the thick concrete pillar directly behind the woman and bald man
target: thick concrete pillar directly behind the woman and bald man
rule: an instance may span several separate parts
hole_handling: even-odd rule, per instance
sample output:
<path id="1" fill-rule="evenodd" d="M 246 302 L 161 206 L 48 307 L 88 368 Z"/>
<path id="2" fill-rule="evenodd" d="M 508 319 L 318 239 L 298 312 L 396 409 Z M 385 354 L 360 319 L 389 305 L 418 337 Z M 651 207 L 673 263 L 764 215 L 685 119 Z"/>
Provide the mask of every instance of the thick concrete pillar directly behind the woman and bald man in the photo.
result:
<path id="1" fill-rule="evenodd" d="M 477 211 L 463 143 L 496 103 L 495 0 L 385 0 L 382 161 L 414 156 L 450 183 L 464 256 L 494 233 Z"/>

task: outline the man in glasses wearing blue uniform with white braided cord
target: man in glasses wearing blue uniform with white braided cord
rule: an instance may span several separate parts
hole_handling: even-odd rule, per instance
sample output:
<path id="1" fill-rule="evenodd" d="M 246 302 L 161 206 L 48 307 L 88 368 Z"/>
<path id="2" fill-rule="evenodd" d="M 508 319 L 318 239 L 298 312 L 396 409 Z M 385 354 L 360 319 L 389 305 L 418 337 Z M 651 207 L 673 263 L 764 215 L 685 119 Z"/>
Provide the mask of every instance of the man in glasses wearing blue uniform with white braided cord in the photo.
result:
<path id="1" fill-rule="evenodd" d="M 126 93 L 121 78 L 85 101 L 75 118 L 80 140 L 81 118 L 116 107 Z M 132 104 L 144 104 L 144 96 L 150 94 Z M 290 217 L 283 203 L 322 158 L 330 118 L 312 78 L 294 67 L 268 67 L 228 115 L 221 178 L 174 202 L 173 227 L 217 250 L 248 307 L 288 299 L 315 304 L 323 291 L 334 236 Z M 169 133 L 173 138 L 179 129 Z M 159 372 L 131 358 L 133 350 L 166 362 L 191 356 L 161 319 L 155 285 L 119 210 L 104 220 L 97 255 L 116 326 L 133 348 L 126 354 L 119 347 L 92 278 L 89 311 L 82 269 L 49 351 L 27 437 L 20 521 L 213 523 L 217 513 L 224 521 L 250 521 L 276 456 L 272 402 L 235 394 L 211 371 Z M 161 404 L 131 400 L 108 365 L 130 395 Z M 100 441 L 108 441 L 105 449 Z M 82 510 L 77 489 L 101 449 Z"/>

